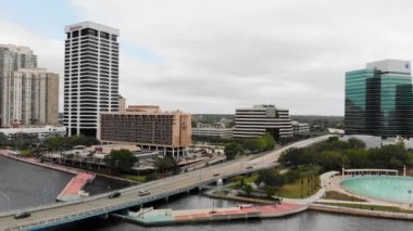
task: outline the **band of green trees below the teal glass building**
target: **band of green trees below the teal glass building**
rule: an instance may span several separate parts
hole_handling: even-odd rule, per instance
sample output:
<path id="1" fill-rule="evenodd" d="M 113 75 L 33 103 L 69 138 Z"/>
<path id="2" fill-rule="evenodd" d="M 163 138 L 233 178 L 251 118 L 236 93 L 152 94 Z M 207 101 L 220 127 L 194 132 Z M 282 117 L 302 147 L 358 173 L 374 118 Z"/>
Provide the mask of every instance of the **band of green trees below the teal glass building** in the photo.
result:
<path id="1" fill-rule="evenodd" d="M 403 143 L 366 150 L 361 140 L 340 141 L 331 138 L 309 147 L 289 149 L 278 162 L 295 168 L 317 165 L 325 171 L 340 170 L 342 167 L 401 169 L 403 165 L 413 167 L 413 151 L 406 150 Z"/>

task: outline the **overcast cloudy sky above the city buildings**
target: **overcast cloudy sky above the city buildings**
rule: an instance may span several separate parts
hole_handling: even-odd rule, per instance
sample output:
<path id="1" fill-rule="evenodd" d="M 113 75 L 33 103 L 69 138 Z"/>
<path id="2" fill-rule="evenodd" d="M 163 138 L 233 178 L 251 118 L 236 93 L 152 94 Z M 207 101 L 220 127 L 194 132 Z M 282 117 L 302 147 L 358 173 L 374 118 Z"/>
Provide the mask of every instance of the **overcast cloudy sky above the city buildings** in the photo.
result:
<path id="1" fill-rule="evenodd" d="M 275 104 L 292 115 L 343 115 L 347 70 L 413 57 L 411 0 L 0 3 L 0 43 L 33 48 L 61 89 L 64 26 L 95 21 L 121 30 L 127 104 L 189 113 Z"/>

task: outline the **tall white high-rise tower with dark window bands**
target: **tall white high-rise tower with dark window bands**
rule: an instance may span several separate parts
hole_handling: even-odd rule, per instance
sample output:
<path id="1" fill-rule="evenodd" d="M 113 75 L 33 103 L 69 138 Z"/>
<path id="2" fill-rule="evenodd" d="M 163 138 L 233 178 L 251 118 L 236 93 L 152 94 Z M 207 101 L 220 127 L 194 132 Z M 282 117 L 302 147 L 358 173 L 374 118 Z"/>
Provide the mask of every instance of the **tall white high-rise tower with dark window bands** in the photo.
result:
<path id="1" fill-rule="evenodd" d="M 118 29 L 92 22 L 66 26 L 64 125 L 97 136 L 100 112 L 118 111 Z"/>

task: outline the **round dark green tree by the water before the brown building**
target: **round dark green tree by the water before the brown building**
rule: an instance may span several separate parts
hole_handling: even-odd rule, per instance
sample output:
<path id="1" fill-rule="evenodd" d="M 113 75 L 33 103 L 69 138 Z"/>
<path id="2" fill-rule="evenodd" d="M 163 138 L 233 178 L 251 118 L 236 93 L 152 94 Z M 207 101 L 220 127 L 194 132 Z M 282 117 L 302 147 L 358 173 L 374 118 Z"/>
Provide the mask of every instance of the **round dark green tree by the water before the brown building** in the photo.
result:
<path id="1" fill-rule="evenodd" d="M 112 150 L 109 155 L 104 157 L 104 161 L 112 172 L 114 174 L 127 174 L 130 171 L 130 167 L 138 162 L 129 150 Z"/>

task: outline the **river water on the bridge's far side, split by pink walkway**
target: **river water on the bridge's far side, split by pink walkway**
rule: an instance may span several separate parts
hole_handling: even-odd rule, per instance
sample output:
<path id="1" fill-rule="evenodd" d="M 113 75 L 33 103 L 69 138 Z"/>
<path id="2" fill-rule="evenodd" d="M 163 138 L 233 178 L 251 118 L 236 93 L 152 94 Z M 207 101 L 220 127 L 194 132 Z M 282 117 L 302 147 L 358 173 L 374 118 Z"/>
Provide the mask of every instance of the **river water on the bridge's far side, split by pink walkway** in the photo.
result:
<path id="1" fill-rule="evenodd" d="M 0 156 L 0 211 L 54 203 L 55 197 L 74 177 Z M 97 177 L 85 190 L 91 195 L 125 187 Z"/>

